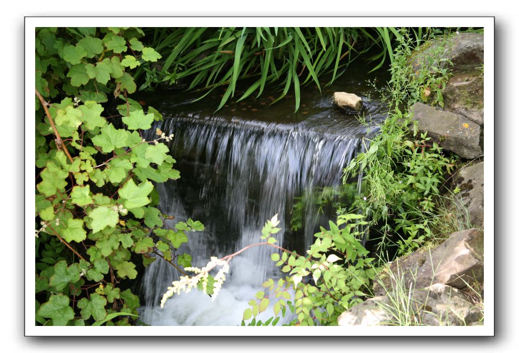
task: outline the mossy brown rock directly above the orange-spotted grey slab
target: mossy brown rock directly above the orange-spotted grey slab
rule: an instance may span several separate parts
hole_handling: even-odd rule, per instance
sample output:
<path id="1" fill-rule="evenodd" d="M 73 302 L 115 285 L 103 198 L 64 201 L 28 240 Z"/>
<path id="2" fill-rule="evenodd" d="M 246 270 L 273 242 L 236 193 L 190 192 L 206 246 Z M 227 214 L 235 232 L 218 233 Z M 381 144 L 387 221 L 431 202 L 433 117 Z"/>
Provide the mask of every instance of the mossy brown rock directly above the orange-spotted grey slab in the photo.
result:
<path id="1" fill-rule="evenodd" d="M 445 110 L 483 125 L 483 75 L 454 75 L 442 94 Z"/>

